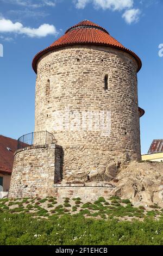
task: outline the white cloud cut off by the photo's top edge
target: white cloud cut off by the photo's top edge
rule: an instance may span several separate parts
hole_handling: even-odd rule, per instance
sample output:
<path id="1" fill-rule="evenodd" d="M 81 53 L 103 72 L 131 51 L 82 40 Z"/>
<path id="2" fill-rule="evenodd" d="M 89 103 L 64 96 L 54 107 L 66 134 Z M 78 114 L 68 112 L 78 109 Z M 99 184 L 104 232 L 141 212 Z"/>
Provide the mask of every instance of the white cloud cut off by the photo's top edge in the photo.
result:
<path id="1" fill-rule="evenodd" d="M 95 8 L 123 10 L 133 7 L 134 0 L 76 0 L 76 7 L 84 9 L 86 4 L 93 3 Z"/>

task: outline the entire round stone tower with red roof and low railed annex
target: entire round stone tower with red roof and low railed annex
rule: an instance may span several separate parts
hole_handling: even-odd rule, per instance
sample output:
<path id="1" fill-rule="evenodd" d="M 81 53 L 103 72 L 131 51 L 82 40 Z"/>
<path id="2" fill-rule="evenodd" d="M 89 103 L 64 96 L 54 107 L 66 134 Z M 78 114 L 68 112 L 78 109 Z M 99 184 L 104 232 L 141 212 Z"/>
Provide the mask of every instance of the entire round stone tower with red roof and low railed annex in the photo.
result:
<path id="1" fill-rule="evenodd" d="M 37 53 L 33 69 L 35 132 L 18 140 L 10 197 L 102 188 L 141 159 L 134 52 L 84 20 Z"/>

